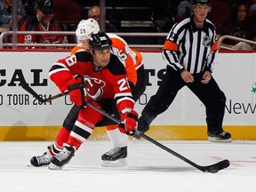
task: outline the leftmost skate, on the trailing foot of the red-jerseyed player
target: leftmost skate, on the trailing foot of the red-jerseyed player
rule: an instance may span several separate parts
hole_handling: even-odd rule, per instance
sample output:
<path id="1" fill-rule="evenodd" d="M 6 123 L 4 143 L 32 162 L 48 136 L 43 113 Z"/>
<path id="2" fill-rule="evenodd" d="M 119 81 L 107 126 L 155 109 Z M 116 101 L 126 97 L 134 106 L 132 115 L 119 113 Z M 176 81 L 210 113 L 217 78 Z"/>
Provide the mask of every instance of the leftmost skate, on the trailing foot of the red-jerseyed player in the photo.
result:
<path id="1" fill-rule="evenodd" d="M 48 151 L 44 152 L 42 156 L 33 156 L 30 159 L 30 164 L 28 166 L 47 166 L 51 163 L 52 154 L 50 153 L 50 147 L 48 147 Z"/>

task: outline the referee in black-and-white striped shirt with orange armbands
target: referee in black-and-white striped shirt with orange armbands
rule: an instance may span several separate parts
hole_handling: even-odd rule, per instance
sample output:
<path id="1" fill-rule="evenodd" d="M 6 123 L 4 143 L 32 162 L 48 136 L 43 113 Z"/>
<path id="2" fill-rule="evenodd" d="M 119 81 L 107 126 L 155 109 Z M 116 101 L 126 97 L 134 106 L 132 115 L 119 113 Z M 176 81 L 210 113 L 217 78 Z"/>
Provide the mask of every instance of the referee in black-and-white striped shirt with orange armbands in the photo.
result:
<path id="1" fill-rule="evenodd" d="M 158 91 L 142 110 L 138 131 L 147 132 L 149 124 L 169 108 L 177 92 L 188 86 L 206 108 L 208 140 L 231 141 L 230 133 L 222 129 L 226 97 L 212 77 L 217 42 L 216 28 L 206 20 L 211 9 L 210 0 L 193 0 L 194 14 L 172 27 L 162 52 L 167 70 Z"/>

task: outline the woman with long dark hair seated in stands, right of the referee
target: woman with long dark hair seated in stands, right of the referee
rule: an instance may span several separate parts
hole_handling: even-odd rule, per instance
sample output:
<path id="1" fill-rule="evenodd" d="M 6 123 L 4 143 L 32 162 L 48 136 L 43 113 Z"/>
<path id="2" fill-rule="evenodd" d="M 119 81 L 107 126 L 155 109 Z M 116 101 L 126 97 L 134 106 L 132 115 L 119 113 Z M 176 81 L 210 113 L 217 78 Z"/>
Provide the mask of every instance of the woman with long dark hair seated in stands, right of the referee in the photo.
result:
<path id="1" fill-rule="evenodd" d="M 229 19 L 223 21 L 217 30 L 217 38 L 220 39 L 220 36 L 228 35 L 249 39 L 250 28 L 246 4 L 244 2 L 233 4 Z M 235 50 L 252 50 L 250 44 L 231 39 L 224 39 L 221 46 Z"/>

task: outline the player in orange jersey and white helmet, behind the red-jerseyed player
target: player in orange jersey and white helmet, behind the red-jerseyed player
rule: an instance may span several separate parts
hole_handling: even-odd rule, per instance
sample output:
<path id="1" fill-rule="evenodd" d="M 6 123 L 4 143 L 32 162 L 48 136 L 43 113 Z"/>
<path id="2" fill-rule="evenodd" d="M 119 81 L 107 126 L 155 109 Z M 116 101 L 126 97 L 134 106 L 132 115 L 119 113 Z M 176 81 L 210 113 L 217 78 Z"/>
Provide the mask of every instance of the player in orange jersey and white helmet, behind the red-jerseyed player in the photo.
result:
<path id="1" fill-rule="evenodd" d="M 88 41 L 90 36 L 99 32 L 100 26 L 96 20 L 81 20 L 76 28 L 76 39 L 78 45 L 72 49 L 71 54 L 75 54 L 76 52 L 88 52 Z M 139 100 L 140 95 L 145 92 L 147 84 L 142 56 L 140 52 L 130 48 L 120 36 L 116 36 L 112 33 L 107 33 L 107 35 L 113 43 L 111 52 L 115 54 L 124 64 L 128 81 L 132 89 L 133 99 L 137 101 Z M 76 106 L 74 108 L 76 108 Z M 106 129 L 108 132 L 108 137 L 111 140 L 114 148 L 110 149 L 101 156 L 102 165 L 124 165 L 125 157 L 127 156 L 126 147 L 128 145 L 128 136 L 127 134 L 119 131 L 117 124 L 107 125 Z"/>

